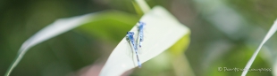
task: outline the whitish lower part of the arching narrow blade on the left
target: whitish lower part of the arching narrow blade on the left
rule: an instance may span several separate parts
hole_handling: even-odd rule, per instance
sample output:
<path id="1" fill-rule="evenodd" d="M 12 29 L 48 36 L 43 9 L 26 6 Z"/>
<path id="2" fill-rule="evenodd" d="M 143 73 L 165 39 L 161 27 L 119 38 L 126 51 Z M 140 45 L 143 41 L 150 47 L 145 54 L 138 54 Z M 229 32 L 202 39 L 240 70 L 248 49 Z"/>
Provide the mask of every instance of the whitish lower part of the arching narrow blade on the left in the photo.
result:
<path id="1" fill-rule="evenodd" d="M 63 34 L 71 30 L 72 28 L 79 27 L 82 24 L 88 23 L 91 18 L 95 16 L 96 13 L 90 13 L 83 16 L 73 17 L 69 19 L 57 19 L 53 24 L 48 25 L 47 27 L 40 30 L 37 34 L 31 36 L 26 42 L 21 45 L 17 57 L 13 61 L 13 64 L 9 67 L 8 71 L 5 73 L 5 76 L 9 76 L 13 71 L 13 68 L 19 64 L 21 58 L 31 47 L 37 45 L 40 42 L 44 42 L 52 37 L 55 37 L 58 34 Z"/>

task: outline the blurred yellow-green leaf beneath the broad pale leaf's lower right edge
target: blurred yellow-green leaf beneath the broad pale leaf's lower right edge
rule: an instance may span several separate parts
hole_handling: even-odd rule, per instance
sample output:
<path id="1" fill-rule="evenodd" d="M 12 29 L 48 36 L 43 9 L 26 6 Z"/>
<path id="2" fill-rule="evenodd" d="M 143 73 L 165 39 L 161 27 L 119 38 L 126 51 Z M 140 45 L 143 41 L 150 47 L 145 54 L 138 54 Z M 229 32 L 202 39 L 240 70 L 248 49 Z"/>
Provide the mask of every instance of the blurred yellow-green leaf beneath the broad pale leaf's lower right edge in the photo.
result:
<path id="1" fill-rule="evenodd" d="M 189 41 L 189 34 L 186 34 L 170 49 L 166 49 L 163 53 L 151 58 L 143 64 L 143 68 L 135 69 L 130 75 L 195 76 L 187 57 L 184 55 L 185 50 L 189 47 Z"/>

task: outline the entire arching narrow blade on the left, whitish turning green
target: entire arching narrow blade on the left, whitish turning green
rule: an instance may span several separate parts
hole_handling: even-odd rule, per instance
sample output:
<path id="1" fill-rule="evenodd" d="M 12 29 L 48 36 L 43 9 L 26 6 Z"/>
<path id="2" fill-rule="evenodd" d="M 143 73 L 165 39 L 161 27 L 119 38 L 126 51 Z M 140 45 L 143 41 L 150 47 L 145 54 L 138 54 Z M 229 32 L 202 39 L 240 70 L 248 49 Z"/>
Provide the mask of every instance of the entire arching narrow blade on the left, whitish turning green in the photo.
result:
<path id="1" fill-rule="evenodd" d="M 20 63 L 21 58 L 24 57 L 25 53 L 33 46 L 38 45 L 38 43 L 44 42 L 55 37 L 56 35 L 63 34 L 75 27 L 80 27 L 81 25 L 89 22 L 97 22 L 101 19 L 111 19 L 111 17 L 125 18 L 122 19 L 122 22 L 130 24 L 127 22 L 128 20 L 126 21 L 126 19 L 133 16 L 122 11 L 100 11 L 72 18 L 57 19 L 54 23 L 41 29 L 37 34 L 31 36 L 21 45 L 21 49 L 19 49 L 17 57 L 15 57 L 13 64 L 9 67 L 8 71 L 5 73 L 5 76 L 9 76 L 14 67 Z"/>

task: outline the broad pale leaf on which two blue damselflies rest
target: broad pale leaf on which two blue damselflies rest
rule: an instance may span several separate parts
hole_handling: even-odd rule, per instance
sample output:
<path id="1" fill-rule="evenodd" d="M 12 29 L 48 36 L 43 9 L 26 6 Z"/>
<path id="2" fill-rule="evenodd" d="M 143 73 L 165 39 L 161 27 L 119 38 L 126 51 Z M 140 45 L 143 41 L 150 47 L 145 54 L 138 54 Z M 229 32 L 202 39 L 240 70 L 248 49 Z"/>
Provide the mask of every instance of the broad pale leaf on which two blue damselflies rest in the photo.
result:
<path id="1" fill-rule="evenodd" d="M 161 6 L 155 6 L 152 11 L 148 11 L 140 21 L 146 23 L 144 32 L 144 42 L 139 49 L 139 59 L 141 63 L 156 57 L 164 50 L 169 49 L 175 42 L 179 41 L 185 34 L 189 34 L 189 28 L 180 24 L 168 11 Z M 137 38 L 138 27 L 131 30 Z M 112 54 L 108 58 L 100 72 L 100 76 L 119 76 L 136 66 L 137 57 L 130 48 L 130 43 L 123 37 Z M 143 65 L 142 67 L 143 68 Z"/>

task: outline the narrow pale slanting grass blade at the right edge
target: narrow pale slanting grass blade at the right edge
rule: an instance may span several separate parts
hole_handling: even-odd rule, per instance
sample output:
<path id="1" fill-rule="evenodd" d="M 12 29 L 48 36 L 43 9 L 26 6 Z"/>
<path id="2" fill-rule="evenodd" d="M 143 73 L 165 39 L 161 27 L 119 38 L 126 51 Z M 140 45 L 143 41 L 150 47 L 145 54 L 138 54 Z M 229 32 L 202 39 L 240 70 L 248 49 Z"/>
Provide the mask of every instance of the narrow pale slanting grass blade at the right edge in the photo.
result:
<path id="1" fill-rule="evenodd" d="M 265 35 L 263 42 L 260 43 L 259 47 L 254 52 L 253 56 L 248 61 L 248 64 L 245 66 L 245 68 L 244 68 L 245 70 L 242 72 L 241 76 L 245 76 L 248 73 L 248 69 L 253 64 L 253 62 L 254 62 L 257 54 L 259 53 L 260 49 L 262 48 L 264 43 L 276 32 L 276 30 L 277 30 L 277 19 L 275 20 L 275 22 L 273 24 L 273 27 L 271 27 L 270 30 L 268 31 L 268 33 Z"/>

